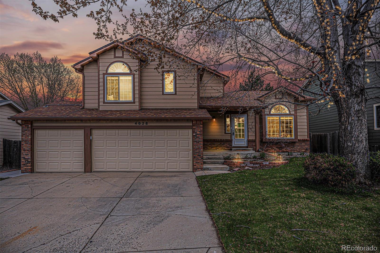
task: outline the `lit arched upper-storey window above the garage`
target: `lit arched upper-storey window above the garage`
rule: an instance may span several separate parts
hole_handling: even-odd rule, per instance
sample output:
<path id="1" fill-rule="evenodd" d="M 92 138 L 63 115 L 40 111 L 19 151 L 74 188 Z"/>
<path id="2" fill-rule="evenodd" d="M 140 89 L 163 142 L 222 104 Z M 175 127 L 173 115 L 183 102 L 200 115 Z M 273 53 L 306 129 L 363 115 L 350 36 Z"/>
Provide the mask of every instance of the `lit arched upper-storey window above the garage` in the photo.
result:
<path id="1" fill-rule="evenodd" d="M 133 74 L 127 64 L 115 62 L 105 74 L 105 102 L 133 102 Z"/>

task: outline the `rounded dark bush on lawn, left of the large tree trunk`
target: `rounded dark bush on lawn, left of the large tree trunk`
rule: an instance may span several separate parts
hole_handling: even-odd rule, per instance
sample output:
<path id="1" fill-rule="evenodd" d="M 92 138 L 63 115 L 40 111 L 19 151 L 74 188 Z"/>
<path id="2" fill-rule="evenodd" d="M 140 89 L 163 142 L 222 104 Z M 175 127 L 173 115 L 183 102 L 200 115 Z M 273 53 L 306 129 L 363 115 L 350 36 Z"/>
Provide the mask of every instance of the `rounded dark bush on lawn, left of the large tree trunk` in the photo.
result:
<path id="1" fill-rule="evenodd" d="M 311 182 L 341 189 L 353 187 L 357 175 L 353 164 L 345 158 L 326 153 L 306 157 L 304 171 Z"/>

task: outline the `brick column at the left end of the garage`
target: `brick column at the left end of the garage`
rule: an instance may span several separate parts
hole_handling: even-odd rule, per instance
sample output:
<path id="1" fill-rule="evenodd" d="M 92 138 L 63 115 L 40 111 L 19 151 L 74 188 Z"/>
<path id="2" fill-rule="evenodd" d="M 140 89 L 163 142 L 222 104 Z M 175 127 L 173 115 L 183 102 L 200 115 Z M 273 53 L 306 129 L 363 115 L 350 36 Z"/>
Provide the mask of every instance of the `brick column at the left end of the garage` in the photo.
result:
<path id="1" fill-rule="evenodd" d="M 32 172 L 32 122 L 21 123 L 21 173 Z"/>

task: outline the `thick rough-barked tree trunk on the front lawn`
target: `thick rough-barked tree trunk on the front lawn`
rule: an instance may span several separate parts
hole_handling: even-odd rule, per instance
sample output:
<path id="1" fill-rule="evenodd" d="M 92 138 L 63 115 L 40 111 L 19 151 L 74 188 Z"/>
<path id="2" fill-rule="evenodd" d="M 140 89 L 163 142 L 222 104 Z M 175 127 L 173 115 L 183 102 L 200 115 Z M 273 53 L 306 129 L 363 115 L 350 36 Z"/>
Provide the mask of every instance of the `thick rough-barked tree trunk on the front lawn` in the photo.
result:
<path id="1" fill-rule="evenodd" d="M 339 117 L 340 154 L 353 162 L 359 172 L 358 180 L 366 182 L 370 171 L 364 61 L 358 60 L 344 66 L 343 76 L 346 89 L 333 95 Z"/>

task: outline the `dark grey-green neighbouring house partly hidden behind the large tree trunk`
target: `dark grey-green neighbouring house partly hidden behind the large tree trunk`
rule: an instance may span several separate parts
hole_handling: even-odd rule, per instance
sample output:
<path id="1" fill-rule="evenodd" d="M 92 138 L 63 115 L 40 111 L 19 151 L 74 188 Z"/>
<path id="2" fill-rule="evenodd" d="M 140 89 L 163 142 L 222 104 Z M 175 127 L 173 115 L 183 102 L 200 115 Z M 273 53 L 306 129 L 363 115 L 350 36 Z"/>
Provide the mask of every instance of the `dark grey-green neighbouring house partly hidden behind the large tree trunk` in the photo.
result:
<path id="1" fill-rule="evenodd" d="M 367 85 L 380 85 L 380 59 L 366 60 Z M 308 84 L 306 84 L 308 85 Z M 317 85 L 308 85 L 312 92 L 318 92 Z M 368 89 L 367 96 L 380 96 L 380 89 Z M 308 93 L 305 93 L 309 95 Z M 367 101 L 368 144 L 371 150 L 380 147 L 380 98 Z M 309 106 L 309 130 L 311 133 L 339 131 L 337 109 L 332 101 L 323 101 Z"/>

